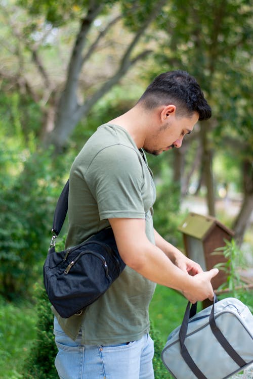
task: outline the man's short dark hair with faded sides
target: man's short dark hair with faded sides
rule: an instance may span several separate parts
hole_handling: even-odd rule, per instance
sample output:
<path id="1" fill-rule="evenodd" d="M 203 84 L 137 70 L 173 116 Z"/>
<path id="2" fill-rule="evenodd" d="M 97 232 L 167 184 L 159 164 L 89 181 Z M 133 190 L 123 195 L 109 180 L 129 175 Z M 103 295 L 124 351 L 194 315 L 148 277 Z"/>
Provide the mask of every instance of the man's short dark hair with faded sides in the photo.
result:
<path id="1" fill-rule="evenodd" d="M 174 104 L 177 114 L 199 114 L 199 121 L 208 120 L 212 110 L 196 79 L 186 71 L 168 71 L 158 75 L 147 87 L 138 101 L 146 109 Z"/>

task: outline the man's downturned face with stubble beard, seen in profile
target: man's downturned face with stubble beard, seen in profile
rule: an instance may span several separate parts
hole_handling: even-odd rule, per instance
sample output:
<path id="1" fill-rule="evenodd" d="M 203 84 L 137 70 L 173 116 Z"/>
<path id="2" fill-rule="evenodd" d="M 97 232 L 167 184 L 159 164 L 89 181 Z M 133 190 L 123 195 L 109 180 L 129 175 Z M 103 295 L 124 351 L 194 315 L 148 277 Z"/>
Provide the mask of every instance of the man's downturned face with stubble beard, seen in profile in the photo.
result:
<path id="1" fill-rule="evenodd" d="M 190 117 L 170 116 L 163 122 L 156 133 L 153 133 L 145 140 L 144 150 L 153 155 L 159 155 L 164 151 L 180 148 L 183 138 L 189 134 L 198 121 L 198 114 Z"/>

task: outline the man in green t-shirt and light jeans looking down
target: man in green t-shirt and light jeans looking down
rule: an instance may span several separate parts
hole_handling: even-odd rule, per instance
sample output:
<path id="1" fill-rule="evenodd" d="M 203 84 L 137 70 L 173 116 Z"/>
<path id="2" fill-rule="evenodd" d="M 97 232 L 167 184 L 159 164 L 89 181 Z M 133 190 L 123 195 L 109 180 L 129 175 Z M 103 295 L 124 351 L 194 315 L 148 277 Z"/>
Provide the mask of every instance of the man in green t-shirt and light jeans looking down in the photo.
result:
<path id="1" fill-rule="evenodd" d="M 213 298 L 217 269 L 201 267 L 153 228 L 155 186 L 145 150 L 180 148 L 211 110 L 196 80 L 182 71 L 159 75 L 138 103 L 100 126 L 70 172 L 66 247 L 113 229 L 126 267 L 110 289 L 79 316 L 55 312 L 56 367 L 63 379 L 153 379 L 148 307 L 155 283 L 195 303 Z"/>

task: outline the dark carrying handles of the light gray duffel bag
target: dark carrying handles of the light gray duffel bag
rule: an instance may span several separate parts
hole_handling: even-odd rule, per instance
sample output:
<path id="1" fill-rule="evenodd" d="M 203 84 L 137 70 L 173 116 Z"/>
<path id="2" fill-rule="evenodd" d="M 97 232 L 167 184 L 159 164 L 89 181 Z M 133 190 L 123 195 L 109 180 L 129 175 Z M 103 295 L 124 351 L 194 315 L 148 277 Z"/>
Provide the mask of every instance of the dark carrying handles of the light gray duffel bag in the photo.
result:
<path id="1" fill-rule="evenodd" d="M 222 334 L 222 331 L 218 328 L 216 321 L 215 321 L 215 303 L 218 302 L 217 296 L 214 295 L 214 304 L 210 312 L 209 316 L 209 324 L 210 328 L 213 331 L 214 336 L 218 340 L 218 342 L 221 344 L 221 346 L 224 348 L 224 350 L 228 353 L 228 355 L 238 364 L 239 367 L 243 367 L 246 365 L 246 362 L 241 358 L 241 356 L 233 349 L 233 347 L 230 345 L 226 337 Z M 186 346 L 185 346 L 185 339 L 187 335 L 187 328 L 188 328 L 188 322 L 189 318 L 194 316 L 196 314 L 197 310 L 197 303 L 192 304 L 188 302 L 185 315 L 182 321 L 182 325 L 179 330 L 179 341 L 180 341 L 180 347 L 181 347 L 181 355 L 184 358 L 187 365 L 190 367 L 192 372 L 195 374 L 195 376 L 198 379 L 207 379 L 206 376 L 203 374 L 203 372 L 198 368 L 196 363 L 193 361 L 192 357 L 190 356 L 190 353 L 188 352 Z"/>

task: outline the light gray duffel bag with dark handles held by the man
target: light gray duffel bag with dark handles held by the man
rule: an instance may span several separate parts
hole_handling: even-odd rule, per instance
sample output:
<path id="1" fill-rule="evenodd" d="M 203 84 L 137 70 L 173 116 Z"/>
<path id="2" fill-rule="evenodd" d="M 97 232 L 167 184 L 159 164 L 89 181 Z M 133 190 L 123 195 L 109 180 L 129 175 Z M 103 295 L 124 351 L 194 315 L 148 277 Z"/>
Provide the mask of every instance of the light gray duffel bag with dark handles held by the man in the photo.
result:
<path id="1" fill-rule="evenodd" d="M 176 379 L 226 379 L 253 362 L 253 316 L 246 305 L 215 296 L 214 305 L 196 310 L 188 303 L 161 353 Z"/>

